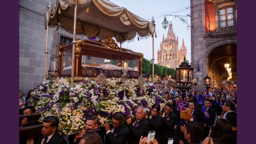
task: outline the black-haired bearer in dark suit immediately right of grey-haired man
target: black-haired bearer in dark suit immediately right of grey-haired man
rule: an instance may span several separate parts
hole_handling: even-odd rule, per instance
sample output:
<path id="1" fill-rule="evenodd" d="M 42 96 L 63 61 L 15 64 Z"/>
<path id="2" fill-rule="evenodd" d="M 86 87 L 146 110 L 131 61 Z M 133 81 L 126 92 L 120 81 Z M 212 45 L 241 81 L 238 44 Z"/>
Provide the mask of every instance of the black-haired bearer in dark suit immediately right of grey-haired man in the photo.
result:
<path id="1" fill-rule="evenodd" d="M 149 130 L 155 130 L 155 139 L 160 142 L 160 132 L 161 132 L 161 126 L 163 124 L 164 118 L 159 115 L 160 112 L 160 105 L 154 104 L 151 108 L 151 115 L 148 116 L 145 115 L 145 118 L 147 119 L 149 123 Z"/>

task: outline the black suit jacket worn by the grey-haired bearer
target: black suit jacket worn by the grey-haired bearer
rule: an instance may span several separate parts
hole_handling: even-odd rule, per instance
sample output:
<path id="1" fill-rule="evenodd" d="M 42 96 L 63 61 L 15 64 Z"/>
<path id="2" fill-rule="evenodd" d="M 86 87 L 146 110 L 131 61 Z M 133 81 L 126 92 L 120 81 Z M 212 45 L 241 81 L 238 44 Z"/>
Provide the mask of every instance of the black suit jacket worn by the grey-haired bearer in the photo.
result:
<path id="1" fill-rule="evenodd" d="M 135 125 L 133 126 L 133 123 L 130 123 L 128 126 L 130 133 L 128 137 L 128 144 L 138 144 L 140 142 L 141 136 L 146 137 L 147 132 L 149 130 L 149 123 L 146 120 L 145 117 L 138 121 L 138 126 L 135 128 Z"/>

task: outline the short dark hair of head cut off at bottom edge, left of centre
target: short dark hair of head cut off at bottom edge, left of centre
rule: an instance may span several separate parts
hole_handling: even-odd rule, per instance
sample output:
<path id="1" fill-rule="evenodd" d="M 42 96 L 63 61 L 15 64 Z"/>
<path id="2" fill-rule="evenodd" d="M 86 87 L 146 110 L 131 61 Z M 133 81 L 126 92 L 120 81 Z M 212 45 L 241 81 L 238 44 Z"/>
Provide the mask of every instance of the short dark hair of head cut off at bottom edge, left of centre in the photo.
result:
<path id="1" fill-rule="evenodd" d="M 83 144 L 102 144 L 101 136 L 95 132 L 86 133 L 82 139 L 85 140 Z"/>

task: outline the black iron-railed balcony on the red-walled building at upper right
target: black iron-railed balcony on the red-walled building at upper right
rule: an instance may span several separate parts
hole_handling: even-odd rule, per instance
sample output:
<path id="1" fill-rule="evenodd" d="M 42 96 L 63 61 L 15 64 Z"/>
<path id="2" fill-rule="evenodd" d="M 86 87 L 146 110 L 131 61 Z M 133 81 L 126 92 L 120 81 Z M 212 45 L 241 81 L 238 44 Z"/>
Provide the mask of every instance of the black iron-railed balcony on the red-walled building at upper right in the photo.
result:
<path id="1" fill-rule="evenodd" d="M 236 30 L 236 29 L 237 29 L 237 18 L 209 22 L 210 33 L 221 32 L 226 30 Z"/>

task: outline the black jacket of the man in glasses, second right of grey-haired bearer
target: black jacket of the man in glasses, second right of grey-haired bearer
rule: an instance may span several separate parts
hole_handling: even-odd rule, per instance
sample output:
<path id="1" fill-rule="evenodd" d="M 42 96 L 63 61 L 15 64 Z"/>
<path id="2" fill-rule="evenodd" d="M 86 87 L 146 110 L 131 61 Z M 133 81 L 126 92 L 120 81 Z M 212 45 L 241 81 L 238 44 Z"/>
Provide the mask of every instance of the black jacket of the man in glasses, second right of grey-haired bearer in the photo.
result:
<path id="1" fill-rule="evenodd" d="M 161 128 L 161 143 L 167 143 L 168 138 L 172 138 L 172 129 L 174 127 L 176 118 L 177 116 L 173 112 L 170 112 L 167 117 L 164 118 L 164 122 Z"/>

